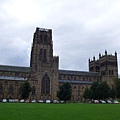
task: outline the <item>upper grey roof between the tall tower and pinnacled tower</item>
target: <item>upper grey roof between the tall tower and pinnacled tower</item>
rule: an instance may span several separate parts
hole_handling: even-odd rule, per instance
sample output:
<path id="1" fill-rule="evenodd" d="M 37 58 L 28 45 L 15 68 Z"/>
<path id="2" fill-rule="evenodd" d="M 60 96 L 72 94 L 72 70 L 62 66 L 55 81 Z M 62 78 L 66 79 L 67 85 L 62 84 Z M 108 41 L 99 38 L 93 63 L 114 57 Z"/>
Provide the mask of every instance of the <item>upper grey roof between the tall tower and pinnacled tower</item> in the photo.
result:
<path id="1" fill-rule="evenodd" d="M 100 76 L 100 73 L 98 73 L 98 72 L 71 71 L 71 70 L 59 70 L 59 74 L 81 75 L 81 76 L 95 76 L 95 77 L 99 77 Z"/>

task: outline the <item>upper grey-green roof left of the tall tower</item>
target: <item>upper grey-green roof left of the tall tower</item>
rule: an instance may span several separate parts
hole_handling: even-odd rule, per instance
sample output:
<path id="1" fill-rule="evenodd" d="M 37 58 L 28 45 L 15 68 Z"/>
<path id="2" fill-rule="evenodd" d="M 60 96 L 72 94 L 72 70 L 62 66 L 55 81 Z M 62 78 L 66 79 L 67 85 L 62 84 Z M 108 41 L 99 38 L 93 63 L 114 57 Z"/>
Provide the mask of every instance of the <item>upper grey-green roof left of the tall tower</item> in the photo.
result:
<path id="1" fill-rule="evenodd" d="M 31 69 L 31 67 L 20 67 L 20 66 L 0 65 L 0 71 L 26 72 L 26 73 L 30 73 L 30 72 L 32 71 L 32 69 Z"/>

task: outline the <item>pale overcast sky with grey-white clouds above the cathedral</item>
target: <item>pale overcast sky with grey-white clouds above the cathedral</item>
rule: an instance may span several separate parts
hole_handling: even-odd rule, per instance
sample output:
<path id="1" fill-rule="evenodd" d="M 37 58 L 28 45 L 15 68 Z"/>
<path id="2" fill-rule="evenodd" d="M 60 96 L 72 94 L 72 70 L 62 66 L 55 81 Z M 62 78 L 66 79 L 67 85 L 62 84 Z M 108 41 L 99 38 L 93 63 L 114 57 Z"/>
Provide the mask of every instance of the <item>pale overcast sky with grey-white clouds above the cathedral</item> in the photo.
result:
<path id="1" fill-rule="evenodd" d="M 120 64 L 120 0 L 0 0 L 0 64 L 29 66 L 36 27 L 52 29 L 60 69 L 88 71 L 105 50 Z"/>

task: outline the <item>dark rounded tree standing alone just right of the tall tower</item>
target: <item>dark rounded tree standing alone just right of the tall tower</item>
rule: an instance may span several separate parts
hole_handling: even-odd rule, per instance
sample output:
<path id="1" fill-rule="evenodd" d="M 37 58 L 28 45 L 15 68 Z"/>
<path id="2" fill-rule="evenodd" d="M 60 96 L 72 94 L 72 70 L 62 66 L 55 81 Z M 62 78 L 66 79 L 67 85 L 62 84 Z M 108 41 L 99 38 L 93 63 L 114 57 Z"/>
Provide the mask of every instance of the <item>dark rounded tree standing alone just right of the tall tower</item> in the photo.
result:
<path id="1" fill-rule="evenodd" d="M 72 88 L 70 83 L 68 82 L 63 83 L 60 86 L 59 91 L 57 92 L 57 97 L 60 100 L 64 100 L 66 102 L 67 100 L 71 99 L 71 95 L 72 95 Z"/>

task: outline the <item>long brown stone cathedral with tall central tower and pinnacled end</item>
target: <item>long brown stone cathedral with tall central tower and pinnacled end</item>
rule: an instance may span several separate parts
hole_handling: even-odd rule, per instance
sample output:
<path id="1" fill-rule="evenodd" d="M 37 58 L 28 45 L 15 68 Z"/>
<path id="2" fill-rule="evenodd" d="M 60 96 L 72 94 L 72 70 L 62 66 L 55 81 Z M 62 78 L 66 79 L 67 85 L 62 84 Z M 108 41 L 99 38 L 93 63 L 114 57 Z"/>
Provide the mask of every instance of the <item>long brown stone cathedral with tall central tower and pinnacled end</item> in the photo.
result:
<path id="1" fill-rule="evenodd" d="M 81 101 L 84 90 L 95 82 L 106 81 L 109 86 L 118 77 L 117 52 L 99 54 L 89 59 L 89 71 L 59 69 L 59 56 L 53 56 L 52 30 L 36 28 L 31 48 L 30 67 L 0 65 L 0 101 L 21 99 L 21 85 L 29 81 L 29 100 L 57 100 L 62 83 L 72 87 L 71 101 Z"/>

